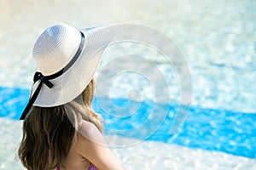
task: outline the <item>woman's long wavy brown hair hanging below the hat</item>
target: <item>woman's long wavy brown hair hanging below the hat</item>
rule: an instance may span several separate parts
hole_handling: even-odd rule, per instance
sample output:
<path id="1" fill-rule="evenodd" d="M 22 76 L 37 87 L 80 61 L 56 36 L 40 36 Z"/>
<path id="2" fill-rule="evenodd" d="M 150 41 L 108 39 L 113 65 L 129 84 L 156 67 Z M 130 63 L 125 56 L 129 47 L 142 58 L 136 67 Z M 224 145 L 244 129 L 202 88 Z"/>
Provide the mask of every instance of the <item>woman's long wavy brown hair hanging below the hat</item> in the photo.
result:
<path id="1" fill-rule="evenodd" d="M 91 109 L 95 92 L 92 79 L 84 89 L 83 104 L 79 97 L 55 107 L 33 106 L 23 122 L 23 138 L 18 156 L 28 170 L 52 169 L 57 164 L 65 167 L 67 155 L 75 143 L 79 122 L 92 122 L 102 132 L 100 117 Z M 81 99 L 80 99 L 81 100 Z"/>

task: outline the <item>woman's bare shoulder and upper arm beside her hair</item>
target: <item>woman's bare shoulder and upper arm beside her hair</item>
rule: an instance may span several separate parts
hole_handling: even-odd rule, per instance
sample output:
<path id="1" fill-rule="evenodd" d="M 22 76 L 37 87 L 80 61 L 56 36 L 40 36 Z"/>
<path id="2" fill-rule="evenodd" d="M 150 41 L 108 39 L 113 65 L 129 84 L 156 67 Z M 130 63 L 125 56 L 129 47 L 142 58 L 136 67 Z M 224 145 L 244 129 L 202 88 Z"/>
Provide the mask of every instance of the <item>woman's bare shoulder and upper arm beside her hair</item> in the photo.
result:
<path id="1" fill-rule="evenodd" d="M 84 156 L 99 170 L 124 170 L 119 159 L 109 150 L 102 133 L 91 122 L 82 122 L 76 144 L 79 155 Z"/>

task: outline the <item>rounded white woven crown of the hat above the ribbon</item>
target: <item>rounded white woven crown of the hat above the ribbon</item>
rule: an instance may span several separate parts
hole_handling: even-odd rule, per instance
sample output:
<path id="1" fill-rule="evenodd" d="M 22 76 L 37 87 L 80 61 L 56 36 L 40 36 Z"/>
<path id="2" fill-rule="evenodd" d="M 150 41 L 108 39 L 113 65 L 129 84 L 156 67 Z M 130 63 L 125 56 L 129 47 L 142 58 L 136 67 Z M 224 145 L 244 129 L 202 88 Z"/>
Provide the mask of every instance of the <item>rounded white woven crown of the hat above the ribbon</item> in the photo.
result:
<path id="1" fill-rule="evenodd" d="M 81 34 L 72 26 L 59 24 L 47 28 L 38 37 L 32 51 L 38 71 L 48 76 L 63 69 L 73 59 L 80 42 Z"/>

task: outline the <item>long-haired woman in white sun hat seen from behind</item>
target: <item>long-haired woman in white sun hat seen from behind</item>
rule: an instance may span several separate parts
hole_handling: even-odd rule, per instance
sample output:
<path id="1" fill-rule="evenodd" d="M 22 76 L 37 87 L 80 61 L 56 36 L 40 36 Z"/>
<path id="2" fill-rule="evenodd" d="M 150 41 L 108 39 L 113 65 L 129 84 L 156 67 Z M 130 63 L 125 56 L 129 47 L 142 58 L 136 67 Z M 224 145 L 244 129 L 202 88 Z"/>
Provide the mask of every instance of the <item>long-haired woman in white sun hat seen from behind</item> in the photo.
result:
<path id="1" fill-rule="evenodd" d="M 18 156 L 27 169 L 124 169 L 106 146 L 100 117 L 91 110 L 93 76 L 114 35 L 111 27 L 79 31 L 59 24 L 38 37 L 32 94 L 20 116 Z"/>

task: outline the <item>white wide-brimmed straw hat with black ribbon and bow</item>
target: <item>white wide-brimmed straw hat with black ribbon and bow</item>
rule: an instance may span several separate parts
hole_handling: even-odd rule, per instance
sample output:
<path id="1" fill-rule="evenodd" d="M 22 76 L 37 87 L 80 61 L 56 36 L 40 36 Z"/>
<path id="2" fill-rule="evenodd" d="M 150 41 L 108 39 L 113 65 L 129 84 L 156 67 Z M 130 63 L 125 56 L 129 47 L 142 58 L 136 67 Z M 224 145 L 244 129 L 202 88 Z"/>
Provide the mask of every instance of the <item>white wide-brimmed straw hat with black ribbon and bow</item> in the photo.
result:
<path id="1" fill-rule="evenodd" d="M 110 26 L 78 30 L 58 24 L 47 28 L 32 51 L 37 71 L 31 98 L 20 120 L 25 119 L 32 105 L 64 105 L 81 94 L 94 77 L 102 53 L 115 34 Z"/>

